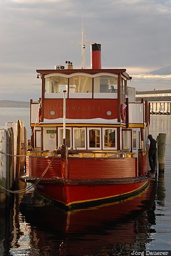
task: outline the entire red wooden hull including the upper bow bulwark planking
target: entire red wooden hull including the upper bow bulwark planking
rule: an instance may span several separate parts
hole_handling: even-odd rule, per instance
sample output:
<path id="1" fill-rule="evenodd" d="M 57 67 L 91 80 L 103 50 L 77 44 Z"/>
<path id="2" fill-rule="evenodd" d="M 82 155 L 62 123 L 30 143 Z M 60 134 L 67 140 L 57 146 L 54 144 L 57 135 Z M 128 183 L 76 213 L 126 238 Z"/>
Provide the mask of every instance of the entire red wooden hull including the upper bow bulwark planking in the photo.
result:
<path id="1" fill-rule="evenodd" d="M 28 158 L 27 176 L 23 179 L 35 183 L 51 160 L 52 157 Z M 43 178 L 35 184 L 40 195 L 64 208 L 119 201 L 143 191 L 149 183 L 147 175 L 136 175 L 136 158 L 69 158 L 66 172 L 67 176 L 62 171 L 61 158 L 54 158 Z"/>

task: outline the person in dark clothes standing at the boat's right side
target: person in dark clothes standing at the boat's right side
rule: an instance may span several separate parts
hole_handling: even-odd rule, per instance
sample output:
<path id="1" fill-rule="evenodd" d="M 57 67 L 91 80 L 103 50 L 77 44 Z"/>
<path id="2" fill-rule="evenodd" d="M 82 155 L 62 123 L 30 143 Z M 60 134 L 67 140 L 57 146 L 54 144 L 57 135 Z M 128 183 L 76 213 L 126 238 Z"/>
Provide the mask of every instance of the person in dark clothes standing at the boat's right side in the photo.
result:
<path id="1" fill-rule="evenodd" d="M 149 166 L 151 168 L 151 172 L 156 171 L 156 152 L 157 152 L 157 142 L 153 139 L 152 135 L 148 135 L 147 139 L 147 146 L 148 146 L 148 159 L 149 159 Z"/>

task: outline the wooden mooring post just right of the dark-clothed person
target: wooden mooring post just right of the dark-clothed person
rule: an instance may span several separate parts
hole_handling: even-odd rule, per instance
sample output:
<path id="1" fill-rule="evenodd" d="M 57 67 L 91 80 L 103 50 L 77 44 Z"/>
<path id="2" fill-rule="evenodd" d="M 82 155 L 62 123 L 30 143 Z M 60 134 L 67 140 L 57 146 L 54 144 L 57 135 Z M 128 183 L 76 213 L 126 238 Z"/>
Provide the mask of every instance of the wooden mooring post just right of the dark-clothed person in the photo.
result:
<path id="1" fill-rule="evenodd" d="M 165 168 L 165 146 L 166 146 L 166 133 L 159 133 L 159 146 L 158 146 L 159 172 L 164 172 L 164 168 Z"/>

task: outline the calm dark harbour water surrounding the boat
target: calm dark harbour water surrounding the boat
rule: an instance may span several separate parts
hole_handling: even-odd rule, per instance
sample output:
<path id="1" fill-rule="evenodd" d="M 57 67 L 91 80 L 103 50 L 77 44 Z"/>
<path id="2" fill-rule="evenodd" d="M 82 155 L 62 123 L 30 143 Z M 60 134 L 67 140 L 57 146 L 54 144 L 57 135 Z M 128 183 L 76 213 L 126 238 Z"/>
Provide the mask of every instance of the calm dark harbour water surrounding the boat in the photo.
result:
<path id="1" fill-rule="evenodd" d="M 27 110 L 15 109 L 12 117 L 6 116 L 25 116 L 29 122 Z M 1 125 L 4 116 L 0 114 Z M 171 250 L 170 123 L 171 116 L 151 117 L 153 137 L 167 133 L 165 174 L 146 191 L 120 204 L 69 213 L 34 192 L 16 196 L 11 209 L 0 209 L 0 255 L 130 255 L 130 250 Z"/>

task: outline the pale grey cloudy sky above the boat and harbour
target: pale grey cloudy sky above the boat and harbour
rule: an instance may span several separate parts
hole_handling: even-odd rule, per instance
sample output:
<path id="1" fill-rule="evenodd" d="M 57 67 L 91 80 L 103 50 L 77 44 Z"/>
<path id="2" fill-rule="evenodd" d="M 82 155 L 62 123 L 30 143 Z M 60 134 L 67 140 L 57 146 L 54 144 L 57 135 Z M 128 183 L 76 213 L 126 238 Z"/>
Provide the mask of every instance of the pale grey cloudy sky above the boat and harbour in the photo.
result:
<path id="1" fill-rule="evenodd" d="M 136 90 L 169 89 L 170 0 L 0 0 L 0 100 L 40 97 L 36 69 L 73 62 L 81 68 L 82 20 L 86 59 L 102 44 L 102 68 L 126 68 Z M 149 74 L 150 73 L 150 74 Z"/>

